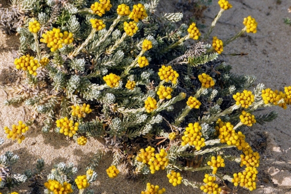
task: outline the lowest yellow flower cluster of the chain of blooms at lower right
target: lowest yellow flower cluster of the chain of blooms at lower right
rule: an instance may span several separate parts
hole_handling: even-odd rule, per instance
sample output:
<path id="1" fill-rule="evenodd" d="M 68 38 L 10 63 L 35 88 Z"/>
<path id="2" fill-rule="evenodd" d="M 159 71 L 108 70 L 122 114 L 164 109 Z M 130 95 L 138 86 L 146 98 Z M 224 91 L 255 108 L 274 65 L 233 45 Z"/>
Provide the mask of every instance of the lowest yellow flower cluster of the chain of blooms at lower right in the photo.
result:
<path id="1" fill-rule="evenodd" d="M 232 182 L 234 186 L 238 186 L 240 183 L 241 187 L 246 187 L 250 191 L 253 191 L 257 188 L 256 179 L 257 179 L 258 170 L 256 167 L 246 167 L 245 170 L 241 173 L 233 174 Z"/>

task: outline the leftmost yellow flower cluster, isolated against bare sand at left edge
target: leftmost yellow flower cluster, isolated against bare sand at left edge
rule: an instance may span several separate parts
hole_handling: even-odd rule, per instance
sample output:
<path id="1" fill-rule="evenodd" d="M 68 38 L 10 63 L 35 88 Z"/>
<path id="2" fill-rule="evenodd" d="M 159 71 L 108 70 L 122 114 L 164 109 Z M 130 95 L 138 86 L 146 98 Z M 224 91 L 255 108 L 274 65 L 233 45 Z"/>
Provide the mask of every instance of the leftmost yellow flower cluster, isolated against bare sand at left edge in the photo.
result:
<path id="1" fill-rule="evenodd" d="M 28 129 L 28 126 L 26 126 L 22 121 L 18 121 L 18 125 L 12 125 L 12 130 L 10 130 L 7 126 L 4 127 L 7 138 L 17 140 L 19 144 L 21 144 L 22 140 L 25 139 L 23 133 L 28 131 Z"/>

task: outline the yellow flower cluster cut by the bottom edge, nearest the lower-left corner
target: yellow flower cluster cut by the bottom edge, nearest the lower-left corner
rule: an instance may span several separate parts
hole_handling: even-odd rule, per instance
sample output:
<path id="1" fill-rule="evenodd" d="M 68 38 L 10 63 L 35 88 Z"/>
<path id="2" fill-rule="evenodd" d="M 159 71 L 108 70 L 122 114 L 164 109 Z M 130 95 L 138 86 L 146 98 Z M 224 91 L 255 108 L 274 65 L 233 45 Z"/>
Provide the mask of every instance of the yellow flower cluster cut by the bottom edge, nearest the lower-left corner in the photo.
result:
<path id="1" fill-rule="evenodd" d="M 44 185 L 49 190 L 49 192 L 53 192 L 53 194 L 73 193 L 72 185 L 67 182 L 64 182 L 62 185 L 57 180 L 48 180 L 48 182 L 45 182 Z"/>

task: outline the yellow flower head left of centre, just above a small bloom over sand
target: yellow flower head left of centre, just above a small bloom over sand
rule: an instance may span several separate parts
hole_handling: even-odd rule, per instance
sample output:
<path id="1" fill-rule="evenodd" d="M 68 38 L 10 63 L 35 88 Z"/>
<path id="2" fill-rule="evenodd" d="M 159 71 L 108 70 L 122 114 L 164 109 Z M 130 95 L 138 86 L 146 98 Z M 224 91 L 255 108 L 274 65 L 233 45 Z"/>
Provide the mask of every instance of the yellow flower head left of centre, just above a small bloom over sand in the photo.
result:
<path id="1" fill-rule="evenodd" d="M 64 133 L 65 136 L 73 137 L 79 128 L 79 123 L 69 120 L 68 117 L 56 120 L 56 124 L 60 129 L 60 133 Z"/>

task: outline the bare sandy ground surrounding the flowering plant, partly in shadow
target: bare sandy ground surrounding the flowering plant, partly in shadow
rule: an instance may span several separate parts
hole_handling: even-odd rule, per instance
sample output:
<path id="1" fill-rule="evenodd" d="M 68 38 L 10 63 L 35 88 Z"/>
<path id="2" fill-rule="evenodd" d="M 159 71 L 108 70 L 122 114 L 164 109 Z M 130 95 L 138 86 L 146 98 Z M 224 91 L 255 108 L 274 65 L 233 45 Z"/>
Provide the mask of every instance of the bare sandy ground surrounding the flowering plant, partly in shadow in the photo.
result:
<path id="1" fill-rule="evenodd" d="M 3 3 L 5 0 L 0 0 Z M 160 7 L 164 12 L 184 12 L 187 21 L 192 13 L 181 10 L 178 0 L 161 0 Z M 283 18 L 290 16 L 287 9 L 291 6 L 288 0 L 230 0 L 233 8 L 224 12 L 211 35 L 226 40 L 243 28 L 243 17 L 251 15 L 258 22 L 256 34 L 244 34 L 243 37 L 230 43 L 224 49 L 223 57 L 230 65 L 233 72 L 239 74 L 256 75 L 258 83 L 264 83 L 273 90 L 283 90 L 284 86 L 291 85 L 290 56 L 291 56 L 291 26 L 283 23 Z M 176 7 L 175 7 L 176 6 Z M 218 13 L 219 7 L 214 0 L 213 4 L 204 12 L 202 18 L 205 25 L 209 26 L 212 19 Z M 203 31 L 207 29 L 201 30 Z M 4 72 L 13 66 L 12 51 L 17 49 L 18 37 L 7 36 L 0 33 L 0 81 L 6 84 L 12 77 L 4 77 Z M 248 55 L 229 56 L 227 54 L 248 53 Z M 0 129 L 11 126 L 18 120 L 28 120 L 30 110 L 25 106 L 4 106 L 7 99 L 5 92 L 0 91 Z M 259 166 L 259 181 L 257 190 L 252 194 L 291 194 L 291 107 L 283 110 L 280 107 L 272 107 L 279 113 L 278 118 L 264 126 L 255 125 L 249 131 L 245 131 L 246 140 L 257 147 L 260 152 L 261 162 Z M 268 110 L 268 111 L 269 111 Z M 263 111 L 262 111 L 263 113 Z M 0 137 L 5 137 L 4 130 L 0 130 Z M 59 162 L 73 162 L 78 168 L 78 175 L 84 174 L 89 158 L 95 153 L 101 144 L 95 139 L 89 139 L 86 146 L 78 146 L 72 140 L 68 141 L 63 135 L 54 132 L 43 134 L 41 126 L 35 125 L 26 133 L 26 139 L 20 145 L 11 140 L 5 140 L 0 147 L 0 155 L 10 150 L 19 156 L 19 162 L 14 167 L 15 172 L 23 172 L 27 168 L 33 168 L 38 158 L 46 162 L 45 173 L 53 164 Z M 266 142 L 260 144 L 260 138 L 266 138 Z M 165 187 L 168 194 L 200 194 L 199 189 L 180 185 L 173 187 L 168 183 L 165 172 L 151 175 L 148 179 L 128 179 L 123 175 L 122 165 L 118 168 L 121 174 L 115 178 L 107 177 L 105 170 L 112 163 L 112 154 L 103 157 L 97 168 L 98 178 L 96 183 L 90 186 L 95 194 L 139 194 L 146 187 L 147 180 L 152 184 Z M 231 166 L 228 167 L 231 172 Z M 202 173 L 183 173 L 182 176 L 189 180 L 202 182 Z M 26 194 L 29 183 L 15 188 L 20 194 Z M 3 191 L 0 191 L 3 192 Z M 251 193 L 241 189 L 238 194 Z"/>

